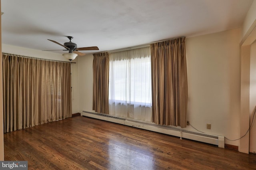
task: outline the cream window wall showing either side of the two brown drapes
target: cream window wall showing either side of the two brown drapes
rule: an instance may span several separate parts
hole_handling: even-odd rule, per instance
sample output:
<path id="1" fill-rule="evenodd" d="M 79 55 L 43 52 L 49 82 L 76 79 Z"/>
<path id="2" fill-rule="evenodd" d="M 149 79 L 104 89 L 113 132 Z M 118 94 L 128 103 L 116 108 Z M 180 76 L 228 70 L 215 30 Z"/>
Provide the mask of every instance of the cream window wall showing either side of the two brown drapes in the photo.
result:
<path id="1" fill-rule="evenodd" d="M 186 39 L 187 120 L 199 130 L 231 139 L 239 138 L 240 35 L 235 29 Z M 92 110 L 92 60 L 88 55 L 78 61 L 80 110 Z M 212 124 L 211 130 L 206 123 Z"/>

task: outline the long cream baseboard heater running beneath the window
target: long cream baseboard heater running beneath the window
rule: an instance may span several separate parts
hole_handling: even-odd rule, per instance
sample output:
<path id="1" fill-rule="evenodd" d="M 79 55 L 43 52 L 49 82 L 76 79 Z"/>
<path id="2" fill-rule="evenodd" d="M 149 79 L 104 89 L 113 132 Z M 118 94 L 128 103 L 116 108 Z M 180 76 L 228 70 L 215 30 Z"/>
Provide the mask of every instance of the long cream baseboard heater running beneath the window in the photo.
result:
<path id="1" fill-rule="evenodd" d="M 172 136 L 178 136 L 180 138 L 186 138 L 190 140 L 196 140 L 199 142 L 205 142 L 209 144 L 218 145 L 220 148 L 224 148 L 224 136 L 217 136 L 212 134 L 194 132 L 191 130 L 185 130 L 182 128 L 171 127 L 171 126 L 163 126 L 163 125 L 155 125 L 152 123 L 144 123 L 140 121 L 134 121 L 130 119 L 119 118 L 107 114 L 90 112 L 90 111 L 82 111 L 82 116 L 92 117 L 95 119 L 100 119 L 104 121 L 109 121 L 113 123 L 119 123 L 126 126 L 141 128 L 145 130 L 151 130 L 154 132 L 169 134 Z"/>

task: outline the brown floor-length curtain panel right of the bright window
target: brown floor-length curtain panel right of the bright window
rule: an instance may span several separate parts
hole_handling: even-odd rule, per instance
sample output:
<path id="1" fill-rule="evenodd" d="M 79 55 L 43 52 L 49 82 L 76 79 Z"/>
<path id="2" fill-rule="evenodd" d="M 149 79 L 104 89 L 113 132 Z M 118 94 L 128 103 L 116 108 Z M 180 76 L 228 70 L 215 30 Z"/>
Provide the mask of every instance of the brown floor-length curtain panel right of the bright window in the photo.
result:
<path id="1" fill-rule="evenodd" d="M 152 120 L 186 127 L 188 83 L 185 38 L 150 44 Z"/>

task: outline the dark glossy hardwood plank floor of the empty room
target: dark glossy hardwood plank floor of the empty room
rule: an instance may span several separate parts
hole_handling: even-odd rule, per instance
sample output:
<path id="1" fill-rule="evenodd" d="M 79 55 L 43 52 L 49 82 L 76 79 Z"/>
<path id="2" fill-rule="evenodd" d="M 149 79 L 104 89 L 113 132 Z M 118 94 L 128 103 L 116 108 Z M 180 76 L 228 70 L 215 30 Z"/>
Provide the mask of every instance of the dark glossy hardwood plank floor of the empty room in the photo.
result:
<path id="1" fill-rule="evenodd" d="M 4 160 L 39 170 L 247 170 L 256 155 L 76 116 L 4 134 Z"/>

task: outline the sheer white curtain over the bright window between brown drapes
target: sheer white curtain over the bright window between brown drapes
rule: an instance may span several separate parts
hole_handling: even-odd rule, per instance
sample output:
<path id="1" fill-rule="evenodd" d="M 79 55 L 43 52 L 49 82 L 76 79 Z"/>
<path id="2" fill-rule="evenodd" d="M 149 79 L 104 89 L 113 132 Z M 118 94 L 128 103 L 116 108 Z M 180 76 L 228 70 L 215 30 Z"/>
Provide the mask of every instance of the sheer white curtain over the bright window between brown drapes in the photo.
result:
<path id="1" fill-rule="evenodd" d="M 150 62 L 150 47 L 110 53 L 110 115 L 152 121 Z"/>

